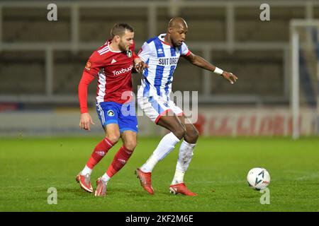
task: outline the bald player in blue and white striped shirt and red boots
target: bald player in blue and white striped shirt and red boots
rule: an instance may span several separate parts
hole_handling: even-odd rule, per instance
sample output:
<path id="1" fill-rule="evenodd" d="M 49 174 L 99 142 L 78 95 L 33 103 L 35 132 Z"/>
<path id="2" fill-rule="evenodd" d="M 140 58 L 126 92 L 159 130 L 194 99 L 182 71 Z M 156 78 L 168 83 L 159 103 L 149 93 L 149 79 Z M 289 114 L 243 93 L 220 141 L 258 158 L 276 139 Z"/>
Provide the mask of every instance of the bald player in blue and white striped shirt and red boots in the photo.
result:
<path id="1" fill-rule="evenodd" d="M 218 69 L 202 57 L 193 54 L 185 44 L 187 31 L 188 26 L 183 18 L 172 18 L 169 20 L 167 32 L 147 40 L 138 53 L 138 57 L 148 65 L 148 68 L 144 69 L 142 73 L 142 85 L 138 90 L 138 105 L 155 124 L 171 131 L 162 138 L 147 162 L 136 169 L 142 187 L 149 194 L 154 194 L 151 183 L 152 169 L 184 138 L 179 149 L 179 159 L 169 191 L 173 194 L 196 196 L 186 188 L 184 174 L 193 156 L 198 131 L 189 119 L 186 119 L 182 109 L 169 98 L 172 92 L 173 73 L 179 57 L 184 57 L 195 66 L 223 76 L 231 84 L 237 80 L 233 73 Z"/>

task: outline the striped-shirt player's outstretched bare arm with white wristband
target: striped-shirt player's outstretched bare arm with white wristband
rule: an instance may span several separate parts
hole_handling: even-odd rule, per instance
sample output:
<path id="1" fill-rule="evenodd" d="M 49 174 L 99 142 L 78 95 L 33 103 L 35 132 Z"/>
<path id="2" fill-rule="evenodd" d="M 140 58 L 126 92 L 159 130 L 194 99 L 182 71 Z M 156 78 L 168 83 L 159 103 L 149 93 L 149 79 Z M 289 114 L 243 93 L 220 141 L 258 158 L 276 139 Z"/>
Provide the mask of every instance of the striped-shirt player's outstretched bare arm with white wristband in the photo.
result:
<path id="1" fill-rule="evenodd" d="M 210 64 L 208 61 L 206 61 L 206 59 L 203 59 L 202 57 L 199 57 L 193 53 L 187 56 L 184 55 L 183 57 L 195 66 L 199 66 L 202 69 L 206 69 L 208 71 L 212 71 L 213 73 L 217 73 L 218 75 L 223 76 L 223 78 L 227 79 L 231 84 L 235 83 L 238 79 L 237 76 L 235 76 L 233 73 L 223 71 L 222 69 L 218 69 L 217 66 L 213 66 L 213 64 Z"/>

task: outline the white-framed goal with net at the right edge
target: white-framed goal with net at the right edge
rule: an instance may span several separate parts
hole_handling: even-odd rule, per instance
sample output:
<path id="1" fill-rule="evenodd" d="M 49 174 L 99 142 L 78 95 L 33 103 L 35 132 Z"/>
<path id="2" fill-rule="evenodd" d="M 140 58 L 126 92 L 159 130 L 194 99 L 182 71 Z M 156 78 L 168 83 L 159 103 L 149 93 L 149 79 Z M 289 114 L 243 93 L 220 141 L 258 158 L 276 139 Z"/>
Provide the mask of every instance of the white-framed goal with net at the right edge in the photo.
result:
<path id="1" fill-rule="evenodd" d="M 292 136 L 319 134 L 319 20 L 291 20 Z M 308 120 L 308 133 L 303 132 Z M 310 132 L 309 132 L 310 131 Z"/>

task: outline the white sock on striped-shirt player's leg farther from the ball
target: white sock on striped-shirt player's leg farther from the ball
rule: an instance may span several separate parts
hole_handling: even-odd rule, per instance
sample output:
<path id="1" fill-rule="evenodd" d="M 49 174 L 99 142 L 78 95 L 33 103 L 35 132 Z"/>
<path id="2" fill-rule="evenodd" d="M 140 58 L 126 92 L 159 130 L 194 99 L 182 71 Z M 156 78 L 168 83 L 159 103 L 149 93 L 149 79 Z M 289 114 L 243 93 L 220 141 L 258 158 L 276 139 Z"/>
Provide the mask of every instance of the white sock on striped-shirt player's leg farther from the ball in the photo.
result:
<path id="1" fill-rule="evenodd" d="M 145 162 L 140 169 L 142 172 L 152 172 L 153 168 L 162 160 L 166 155 L 168 155 L 174 148 L 175 145 L 179 143 L 179 138 L 174 135 L 174 133 L 168 133 L 157 145 L 150 158 Z"/>

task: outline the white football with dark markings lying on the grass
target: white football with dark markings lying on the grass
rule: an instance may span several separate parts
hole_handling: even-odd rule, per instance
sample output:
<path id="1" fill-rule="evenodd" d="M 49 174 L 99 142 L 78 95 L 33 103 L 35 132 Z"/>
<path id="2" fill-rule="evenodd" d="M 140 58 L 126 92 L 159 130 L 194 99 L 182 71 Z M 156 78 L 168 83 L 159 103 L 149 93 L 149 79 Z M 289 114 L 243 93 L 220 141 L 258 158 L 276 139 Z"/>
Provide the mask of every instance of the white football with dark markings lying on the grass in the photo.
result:
<path id="1" fill-rule="evenodd" d="M 267 171 L 267 169 L 264 169 L 262 167 L 252 168 L 247 174 L 247 183 L 253 189 L 264 189 L 270 183 L 269 172 Z"/>

